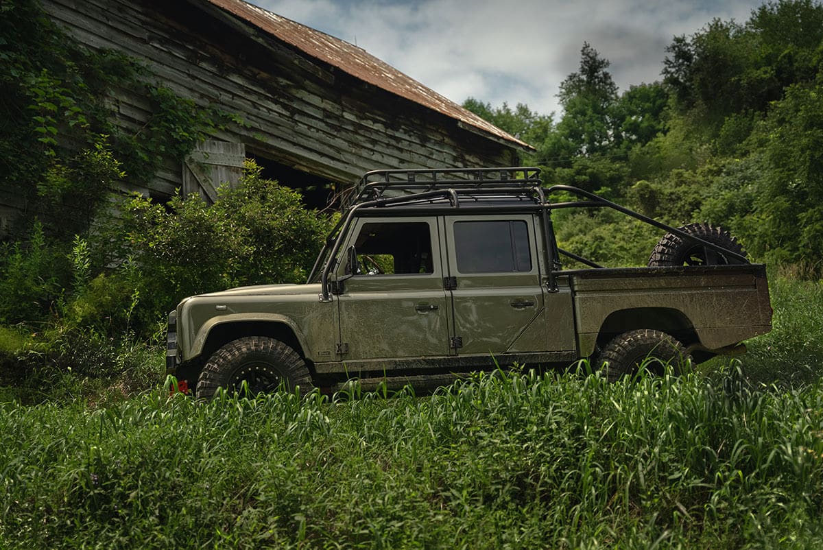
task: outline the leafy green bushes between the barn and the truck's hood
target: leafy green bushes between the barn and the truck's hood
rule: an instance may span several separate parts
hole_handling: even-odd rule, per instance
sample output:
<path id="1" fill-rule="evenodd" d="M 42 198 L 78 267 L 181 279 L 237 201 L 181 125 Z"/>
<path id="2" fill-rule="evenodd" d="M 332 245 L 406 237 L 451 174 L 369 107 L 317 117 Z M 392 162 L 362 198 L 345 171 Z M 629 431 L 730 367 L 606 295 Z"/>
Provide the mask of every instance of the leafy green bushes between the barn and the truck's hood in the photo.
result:
<path id="1" fill-rule="evenodd" d="M 69 244 L 35 223 L 29 239 L 4 245 L 0 324 L 15 327 L 0 332 L 0 387 L 41 401 L 158 383 L 157 335 L 181 298 L 305 280 L 328 221 L 253 163 L 219 193 L 212 205 L 133 197 L 89 240 Z"/>

